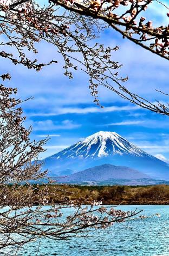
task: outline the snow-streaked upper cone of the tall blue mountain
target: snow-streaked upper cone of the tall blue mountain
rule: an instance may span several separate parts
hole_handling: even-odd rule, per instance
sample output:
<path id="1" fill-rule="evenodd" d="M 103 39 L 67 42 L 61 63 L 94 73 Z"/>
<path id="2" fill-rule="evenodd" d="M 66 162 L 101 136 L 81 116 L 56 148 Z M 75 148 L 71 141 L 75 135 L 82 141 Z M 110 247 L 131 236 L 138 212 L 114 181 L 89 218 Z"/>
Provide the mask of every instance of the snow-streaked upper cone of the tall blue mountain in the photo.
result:
<path id="1" fill-rule="evenodd" d="M 62 150 L 53 157 L 56 157 L 57 159 L 65 159 L 69 157 L 81 157 L 87 159 L 88 157 L 103 157 L 115 154 L 130 154 L 135 156 L 147 155 L 144 151 L 118 135 L 118 133 L 99 131 L 88 136 L 83 141 Z"/>

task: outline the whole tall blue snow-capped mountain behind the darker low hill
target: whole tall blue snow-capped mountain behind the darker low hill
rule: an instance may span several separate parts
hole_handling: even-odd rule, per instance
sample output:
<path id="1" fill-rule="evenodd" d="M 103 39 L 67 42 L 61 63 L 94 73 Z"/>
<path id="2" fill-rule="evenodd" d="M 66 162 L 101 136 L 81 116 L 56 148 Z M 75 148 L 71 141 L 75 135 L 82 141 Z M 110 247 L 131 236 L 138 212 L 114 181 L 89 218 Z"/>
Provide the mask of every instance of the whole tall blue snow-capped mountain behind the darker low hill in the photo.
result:
<path id="1" fill-rule="evenodd" d="M 65 176 L 112 164 L 138 170 L 145 177 L 169 181 L 167 163 L 147 154 L 115 132 L 100 131 L 43 160 L 49 176 Z M 116 170 L 118 172 L 118 169 Z"/>

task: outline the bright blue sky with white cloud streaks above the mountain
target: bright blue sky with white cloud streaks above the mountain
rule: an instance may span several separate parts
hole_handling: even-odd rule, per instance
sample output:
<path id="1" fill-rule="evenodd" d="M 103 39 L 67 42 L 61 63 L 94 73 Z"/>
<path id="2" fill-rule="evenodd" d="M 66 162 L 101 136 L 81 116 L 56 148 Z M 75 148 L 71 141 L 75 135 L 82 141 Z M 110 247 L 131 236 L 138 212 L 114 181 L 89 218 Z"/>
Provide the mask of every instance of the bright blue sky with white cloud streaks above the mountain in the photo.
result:
<path id="1" fill-rule="evenodd" d="M 166 23 L 168 19 L 166 11 L 159 11 L 156 4 L 147 15 L 155 23 Z M 121 76 L 129 76 L 126 83 L 129 89 L 151 101 L 169 101 L 155 92 L 158 88 L 169 93 L 167 60 L 122 39 L 112 29 L 103 32 L 99 41 L 105 45 L 120 46 L 119 51 L 113 53 L 113 59 L 123 64 L 119 71 Z M 85 74 L 75 71 L 74 80 L 69 80 L 63 76 L 63 61 L 57 49 L 44 42 L 37 48 L 36 58 L 40 61 L 48 62 L 56 57 L 59 64 L 37 73 L 3 60 L 1 73 L 10 71 L 12 80 L 5 85 L 18 87 L 19 97 L 34 96 L 33 100 L 23 104 L 27 115 L 25 125 L 33 127 L 32 139 L 49 135 L 47 151 L 41 155 L 42 158 L 102 130 L 115 131 L 146 152 L 169 159 L 169 117 L 134 106 L 106 88 L 99 88 L 99 99 L 104 106 L 100 109 L 93 103 Z"/>

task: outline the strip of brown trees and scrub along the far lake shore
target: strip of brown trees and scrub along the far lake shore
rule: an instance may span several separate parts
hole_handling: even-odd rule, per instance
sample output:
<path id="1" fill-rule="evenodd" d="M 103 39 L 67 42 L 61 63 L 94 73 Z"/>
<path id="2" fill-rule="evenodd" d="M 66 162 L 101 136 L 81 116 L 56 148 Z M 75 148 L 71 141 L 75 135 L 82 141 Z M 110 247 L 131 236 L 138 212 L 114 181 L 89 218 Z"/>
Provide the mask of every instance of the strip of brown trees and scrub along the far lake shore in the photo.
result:
<path id="1" fill-rule="evenodd" d="M 36 198 L 43 185 L 35 185 Z M 79 185 L 48 185 L 48 204 L 61 204 L 77 200 L 83 204 L 102 201 L 107 205 L 160 205 L 169 204 L 169 185 L 154 186 L 79 186 Z M 46 189 L 46 188 L 45 188 Z M 27 186 L 25 186 L 25 192 Z"/>

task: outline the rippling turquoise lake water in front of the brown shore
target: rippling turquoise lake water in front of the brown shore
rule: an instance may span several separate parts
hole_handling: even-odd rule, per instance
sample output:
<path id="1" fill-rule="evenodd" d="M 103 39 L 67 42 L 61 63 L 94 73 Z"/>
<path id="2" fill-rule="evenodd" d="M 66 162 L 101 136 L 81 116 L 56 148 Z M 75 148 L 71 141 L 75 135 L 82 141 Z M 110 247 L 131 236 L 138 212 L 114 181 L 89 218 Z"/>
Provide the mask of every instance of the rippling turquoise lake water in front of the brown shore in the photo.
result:
<path id="1" fill-rule="evenodd" d="M 66 241 L 42 239 L 40 247 L 32 242 L 17 253 L 18 256 L 169 256 L 169 206 L 168 205 L 125 205 L 118 209 L 128 211 L 144 209 L 141 213 L 150 216 L 145 220 L 133 220 L 114 224 L 106 230 L 93 230 L 88 237 L 76 237 Z M 10 256 L 12 254 L 10 253 Z"/>

